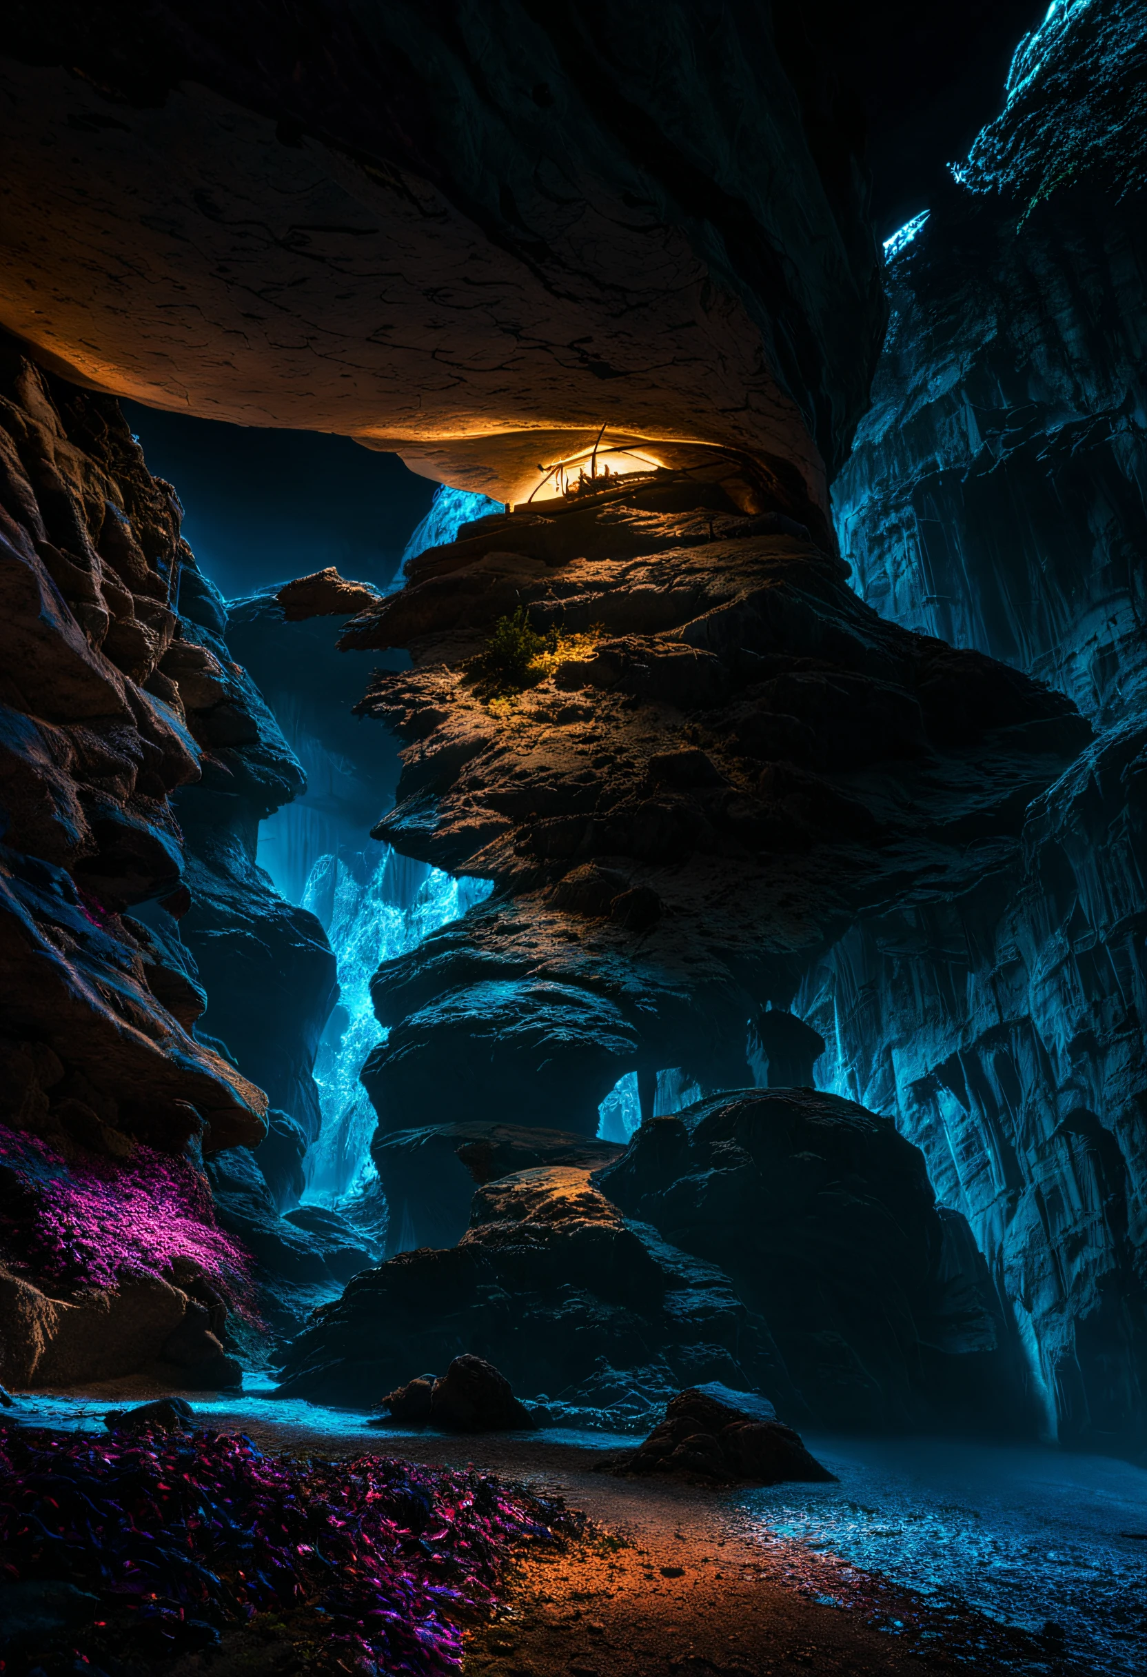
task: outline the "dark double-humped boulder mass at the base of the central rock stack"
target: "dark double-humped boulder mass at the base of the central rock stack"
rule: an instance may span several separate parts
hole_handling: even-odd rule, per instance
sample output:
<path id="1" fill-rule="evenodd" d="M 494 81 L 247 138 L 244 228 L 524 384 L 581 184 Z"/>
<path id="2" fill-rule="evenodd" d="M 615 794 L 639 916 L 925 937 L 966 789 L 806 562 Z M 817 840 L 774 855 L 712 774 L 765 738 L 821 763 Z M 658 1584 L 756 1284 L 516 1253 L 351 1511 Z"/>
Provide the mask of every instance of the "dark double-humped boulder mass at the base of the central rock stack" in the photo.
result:
<path id="1" fill-rule="evenodd" d="M 889 1119 L 750 1090 L 654 1120 L 595 1176 L 480 1187 L 454 1248 L 401 1253 L 317 1313 L 282 1390 L 377 1404 L 473 1353 L 563 1405 L 610 1384 L 637 1425 L 642 1390 L 718 1380 L 790 1419 L 1003 1427 L 1023 1414 L 1004 1333 L 963 1219 Z"/>

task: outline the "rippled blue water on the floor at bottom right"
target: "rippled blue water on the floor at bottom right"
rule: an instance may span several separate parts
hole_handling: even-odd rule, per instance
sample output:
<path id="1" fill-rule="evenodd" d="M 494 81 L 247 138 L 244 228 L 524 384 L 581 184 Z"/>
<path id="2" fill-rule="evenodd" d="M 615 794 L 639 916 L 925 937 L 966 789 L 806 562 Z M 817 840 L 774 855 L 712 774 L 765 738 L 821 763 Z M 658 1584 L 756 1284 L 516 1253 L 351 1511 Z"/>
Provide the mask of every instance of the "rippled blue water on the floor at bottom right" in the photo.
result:
<path id="1" fill-rule="evenodd" d="M 765 1531 L 1013 1625 L 1095 1670 L 1147 1667 L 1147 1471 L 1105 1456 L 805 1434 L 838 1484 L 743 1506 Z"/>

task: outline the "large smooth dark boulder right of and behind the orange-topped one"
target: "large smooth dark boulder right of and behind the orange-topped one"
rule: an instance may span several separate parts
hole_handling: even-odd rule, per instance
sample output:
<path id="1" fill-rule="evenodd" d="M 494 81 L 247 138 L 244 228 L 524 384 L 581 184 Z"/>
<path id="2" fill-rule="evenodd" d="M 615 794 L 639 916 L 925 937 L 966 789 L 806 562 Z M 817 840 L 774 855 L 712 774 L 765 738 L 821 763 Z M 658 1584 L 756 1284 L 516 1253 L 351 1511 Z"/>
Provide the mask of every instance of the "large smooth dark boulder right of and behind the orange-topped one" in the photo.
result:
<path id="1" fill-rule="evenodd" d="M 721 1266 L 822 1425 L 1023 1424 L 991 1280 L 890 1119 L 815 1088 L 714 1095 L 642 1124 L 594 1182 Z"/>

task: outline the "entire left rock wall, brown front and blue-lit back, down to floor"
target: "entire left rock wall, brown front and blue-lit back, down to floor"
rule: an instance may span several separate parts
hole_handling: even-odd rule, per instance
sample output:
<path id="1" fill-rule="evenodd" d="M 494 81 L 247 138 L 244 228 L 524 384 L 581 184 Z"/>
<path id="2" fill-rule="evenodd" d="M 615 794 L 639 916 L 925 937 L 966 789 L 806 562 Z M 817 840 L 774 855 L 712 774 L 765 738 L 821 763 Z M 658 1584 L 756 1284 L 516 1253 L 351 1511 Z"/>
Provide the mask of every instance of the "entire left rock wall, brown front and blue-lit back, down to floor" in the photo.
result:
<path id="1" fill-rule="evenodd" d="M 75 1209 L 62 1207 L 87 1207 L 91 1246 L 84 1218 L 114 1212 L 117 1172 L 235 1157 L 268 1122 L 270 1176 L 290 1201 L 334 971 L 319 924 L 270 890 L 253 852 L 260 817 L 302 776 L 221 641 L 174 491 L 146 471 L 117 404 L 10 344 L 0 381 L 3 1378 L 149 1367 L 184 1385 L 233 1380 L 200 1212 L 173 1229 L 141 1202 L 143 1244 L 89 1261 L 67 1256 Z M 272 1051 L 277 1001 L 293 1041 Z M 205 1030 L 225 1008 L 226 1045 Z M 243 1028 L 257 1016 L 262 1043 Z M 265 1090 L 290 1114 L 268 1120 Z M 329 1295 L 324 1254 L 347 1239 L 295 1233 Z M 117 1281 L 117 1261 L 148 1273 Z"/>

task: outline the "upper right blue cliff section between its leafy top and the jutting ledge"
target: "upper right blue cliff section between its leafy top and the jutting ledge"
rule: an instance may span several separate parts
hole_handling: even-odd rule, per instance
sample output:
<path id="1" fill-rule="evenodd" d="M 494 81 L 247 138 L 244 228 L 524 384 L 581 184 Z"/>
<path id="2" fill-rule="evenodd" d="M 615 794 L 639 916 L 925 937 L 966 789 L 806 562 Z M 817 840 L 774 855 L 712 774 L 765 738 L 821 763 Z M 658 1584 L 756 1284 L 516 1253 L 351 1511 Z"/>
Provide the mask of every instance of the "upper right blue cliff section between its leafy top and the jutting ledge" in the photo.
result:
<path id="1" fill-rule="evenodd" d="M 890 265 L 837 528 L 882 615 L 1115 721 L 1147 662 L 1144 195 L 1020 215 L 952 184 Z"/>

